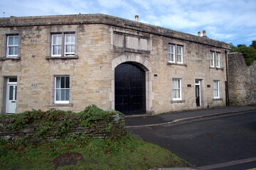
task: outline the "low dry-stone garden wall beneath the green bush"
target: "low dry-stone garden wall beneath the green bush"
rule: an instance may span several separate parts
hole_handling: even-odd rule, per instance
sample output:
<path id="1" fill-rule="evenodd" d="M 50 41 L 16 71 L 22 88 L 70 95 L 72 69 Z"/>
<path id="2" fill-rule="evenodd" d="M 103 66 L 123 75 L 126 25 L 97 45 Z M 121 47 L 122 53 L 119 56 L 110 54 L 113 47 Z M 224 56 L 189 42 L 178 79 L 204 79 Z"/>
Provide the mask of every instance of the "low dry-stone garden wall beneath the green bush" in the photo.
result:
<path id="1" fill-rule="evenodd" d="M 109 120 L 99 120 L 95 125 L 87 127 L 80 127 L 75 124 L 69 128 L 68 135 L 64 137 L 75 137 L 75 135 L 83 135 L 84 137 L 92 137 L 102 139 L 110 135 L 110 132 L 114 130 L 115 134 L 120 134 L 125 131 L 124 115 L 119 115 L 120 120 L 118 123 L 114 120 L 114 117 Z M 111 125 L 111 127 L 110 127 Z M 29 123 L 25 128 L 20 130 L 13 130 L 11 124 L 6 124 L 3 120 L 0 120 L 0 139 L 7 140 L 9 142 L 15 142 L 18 139 L 26 139 L 28 142 L 41 142 L 55 140 L 63 135 L 54 135 L 55 129 L 52 128 L 47 132 L 44 132 L 41 137 L 36 137 L 35 132 L 38 128 L 37 124 Z M 107 130 L 109 128 L 109 130 Z M 110 130 L 110 128 L 112 128 Z"/>

